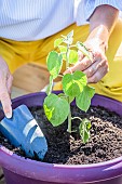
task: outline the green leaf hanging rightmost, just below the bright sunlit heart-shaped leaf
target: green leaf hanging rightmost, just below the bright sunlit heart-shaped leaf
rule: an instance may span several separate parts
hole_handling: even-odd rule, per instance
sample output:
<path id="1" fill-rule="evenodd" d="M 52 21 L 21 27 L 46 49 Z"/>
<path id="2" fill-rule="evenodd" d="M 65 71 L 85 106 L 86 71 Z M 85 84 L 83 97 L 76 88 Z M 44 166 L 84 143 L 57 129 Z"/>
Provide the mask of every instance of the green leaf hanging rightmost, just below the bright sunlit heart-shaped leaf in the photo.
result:
<path id="1" fill-rule="evenodd" d="M 93 97 L 93 95 L 95 94 L 95 89 L 89 86 L 85 86 L 83 88 L 82 93 L 80 93 L 77 97 L 76 97 L 76 103 L 77 106 L 86 111 L 91 105 L 91 98 Z"/>

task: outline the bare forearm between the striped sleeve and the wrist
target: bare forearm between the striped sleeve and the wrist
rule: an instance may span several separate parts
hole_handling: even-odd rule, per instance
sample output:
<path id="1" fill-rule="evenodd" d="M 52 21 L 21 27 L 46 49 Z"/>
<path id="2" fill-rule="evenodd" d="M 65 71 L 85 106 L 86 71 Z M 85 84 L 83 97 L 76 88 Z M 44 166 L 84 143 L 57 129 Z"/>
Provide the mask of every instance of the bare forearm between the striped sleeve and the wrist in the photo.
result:
<path id="1" fill-rule="evenodd" d="M 107 49 L 109 36 L 119 15 L 118 9 L 111 5 L 99 5 L 90 17 L 90 35 L 87 40 L 96 39 L 96 44 Z"/>

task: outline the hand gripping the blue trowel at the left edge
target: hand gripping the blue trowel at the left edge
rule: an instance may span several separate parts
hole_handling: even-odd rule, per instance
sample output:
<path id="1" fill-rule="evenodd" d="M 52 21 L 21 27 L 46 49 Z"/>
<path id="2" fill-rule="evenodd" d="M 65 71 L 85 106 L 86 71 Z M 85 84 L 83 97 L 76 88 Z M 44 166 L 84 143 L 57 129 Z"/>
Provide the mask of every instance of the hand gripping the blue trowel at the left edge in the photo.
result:
<path id="1" fill-rule="evenodd" d="M 4 60 L 0 56 L 0 101 L 6 118 L 12 117 L 11 87 L 13 77 Z"/>

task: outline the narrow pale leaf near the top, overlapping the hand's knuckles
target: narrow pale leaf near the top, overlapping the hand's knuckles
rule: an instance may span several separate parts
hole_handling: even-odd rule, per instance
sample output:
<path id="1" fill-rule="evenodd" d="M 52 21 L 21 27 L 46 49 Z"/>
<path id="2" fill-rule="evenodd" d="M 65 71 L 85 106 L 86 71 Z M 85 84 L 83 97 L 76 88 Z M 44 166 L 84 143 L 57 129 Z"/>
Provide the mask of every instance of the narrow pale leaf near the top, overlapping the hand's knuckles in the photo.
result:
<path id="1" fill-rule="evenodd" d="M 85 45 L 82 42 L 78 41 L 76 45 L 85 56 L 89 57 L 89 60 L 92 61 L 90 52 L 87 51 L 87 49 L 85 48 Z"/>

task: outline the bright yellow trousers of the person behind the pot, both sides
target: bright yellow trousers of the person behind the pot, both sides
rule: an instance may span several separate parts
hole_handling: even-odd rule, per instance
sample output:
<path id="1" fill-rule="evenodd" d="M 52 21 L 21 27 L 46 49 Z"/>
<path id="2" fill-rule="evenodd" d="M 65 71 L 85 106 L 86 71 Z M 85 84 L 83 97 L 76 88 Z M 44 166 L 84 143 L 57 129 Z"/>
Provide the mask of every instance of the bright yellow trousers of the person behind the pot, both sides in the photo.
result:
<path id="1" fill-rule="evenodd" d="M 60 35 L 67 35 L 74 30 L 73 42 L 85 41 L 89 35 L 89 25 L 76 26 L 74 24 L 60 32 L 38 41 L 13 41 L 0 38 L 0 55 L 8 63 L 11 73 L 23 64 L 36 62 L 45 65 L 46 55 L 54 49 L 54 40 Z M 122 102 L 122 21 L 119 21 L 109 39 L 107 51 L 109 73 L 97 84 L 92 84 L 96 93 L 116 98 Z M 55 89 L 62 88 L 60 83 Z"/>

